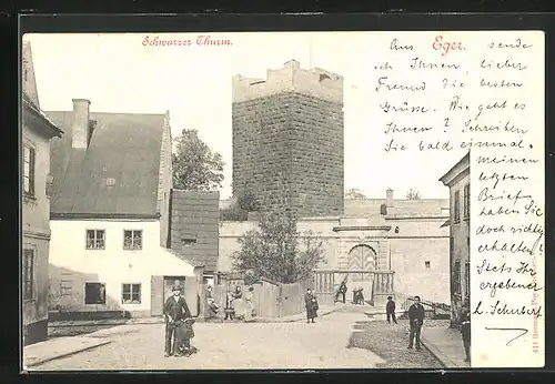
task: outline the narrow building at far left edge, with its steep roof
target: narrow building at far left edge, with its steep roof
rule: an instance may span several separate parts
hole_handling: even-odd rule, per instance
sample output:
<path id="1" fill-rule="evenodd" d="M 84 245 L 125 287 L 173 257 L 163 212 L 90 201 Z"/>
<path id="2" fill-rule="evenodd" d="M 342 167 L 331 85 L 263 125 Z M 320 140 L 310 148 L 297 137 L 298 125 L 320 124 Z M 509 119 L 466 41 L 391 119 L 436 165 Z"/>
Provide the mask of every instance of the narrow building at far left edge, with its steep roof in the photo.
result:
<path id="1" fill-rule="evenodd" d="M 23 43 L 21 130 L 23 344 L 48 336 L 50 140 L 62 131 L 40 110 L 31 46 Z"/>

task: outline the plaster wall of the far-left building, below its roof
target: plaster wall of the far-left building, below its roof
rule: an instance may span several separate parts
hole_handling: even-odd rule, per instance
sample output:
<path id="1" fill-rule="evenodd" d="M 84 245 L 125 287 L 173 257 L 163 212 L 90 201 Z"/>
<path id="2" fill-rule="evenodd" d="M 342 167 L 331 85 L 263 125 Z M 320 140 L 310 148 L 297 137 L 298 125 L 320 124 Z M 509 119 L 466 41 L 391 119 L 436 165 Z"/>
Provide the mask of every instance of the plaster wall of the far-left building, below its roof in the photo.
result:
<path id="1" fill-rule="evenodd" d="M 50 141 L 37 133 L 38 122 L 23 113 L 22 140 L 36 151 L 34 196 L 22 201 L 22 249 L 34 250 L 33 299 L 23 301 L 26 342 L 46 337 L 48 321 L 48 260 L 50 240 L 50 199 L 47 196 L 47 175 L 50 172 Z M 21 160 L 22 161 L 22 160 Z M 21 173 L 22 174 L 22 173 Z"/>

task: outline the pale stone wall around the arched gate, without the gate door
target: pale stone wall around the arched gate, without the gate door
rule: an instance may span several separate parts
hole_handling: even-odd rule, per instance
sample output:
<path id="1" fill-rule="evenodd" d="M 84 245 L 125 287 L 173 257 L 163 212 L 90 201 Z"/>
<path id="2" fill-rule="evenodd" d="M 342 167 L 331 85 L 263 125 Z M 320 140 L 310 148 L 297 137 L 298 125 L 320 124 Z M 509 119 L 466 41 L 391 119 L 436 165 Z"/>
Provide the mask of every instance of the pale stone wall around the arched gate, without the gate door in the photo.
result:
<path id="1" fill-rule="evenodd" d="M 297 230 L 313 231 L 325 240 L 326 262 L 323 269 L 346 269 L 349 252 L 356 245 L 369 245 L 377 256 L 379 270 L 393 270 L 397 293 L 420 294 L 434 302 L 450 302 L 450 239 L 447 218 L 426 215 L 421 219 L 386 216 L 380 220 L 322 218 L 300 220 Z M 372 230 L 352 230 L 366 225 Z M 255 229 L 255 222 L 222 222 L 220 224 L 219 271 L 231 271 L 231 254 L 240 250 L 238 239 Z M 334 232 L 334 228 L 345 231 Z M 391 228 L 387 230 L 387 228 Z M 395 229 L 398 232 L 395 233 Z M 430 261 L 430 269 L 425 262 Z M 370 284 L 371 282 L 369 282 Z M 337 280 L 339 284 L 339 280 Z M 364 285 L 362 283 L 353 283 Z M 370 289 L 369 289 L 370 290 Z M 370 292 L 366 290 L 366 292 Z M 417 292 L 417 293 L 415 293 Z"/>

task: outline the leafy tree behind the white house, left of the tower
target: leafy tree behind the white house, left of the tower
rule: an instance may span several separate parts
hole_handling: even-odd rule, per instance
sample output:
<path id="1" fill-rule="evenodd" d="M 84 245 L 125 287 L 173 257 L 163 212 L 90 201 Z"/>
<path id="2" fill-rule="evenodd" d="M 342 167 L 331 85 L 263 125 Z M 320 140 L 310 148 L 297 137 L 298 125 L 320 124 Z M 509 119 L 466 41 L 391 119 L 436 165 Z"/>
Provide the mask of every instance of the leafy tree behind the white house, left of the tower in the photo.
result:
<path id="1" fill-rule="evenodd" d="M 222 188 L 222 155 L 213 152 L 199 138 L 196 130 L 183 130 L 175 139 L 173 161 L 173 185 L 189 191 L 211 191 Z"/>

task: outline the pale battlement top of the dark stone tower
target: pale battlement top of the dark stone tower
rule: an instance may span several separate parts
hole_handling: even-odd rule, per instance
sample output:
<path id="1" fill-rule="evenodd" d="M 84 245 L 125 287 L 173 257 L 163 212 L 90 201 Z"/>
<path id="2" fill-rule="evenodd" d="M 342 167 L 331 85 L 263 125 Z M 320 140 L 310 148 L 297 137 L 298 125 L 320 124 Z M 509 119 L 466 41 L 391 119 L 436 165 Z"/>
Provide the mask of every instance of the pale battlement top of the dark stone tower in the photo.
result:
<path id="1" fill-rule="evenodd" d="M 320 68 L 302 69 L 296 60 L 287 61 L 280 69 L 269 69 L 265 80 L 236 74 L 232 82 L 233 102 L 297 92 L 343 104 L 342 75 Z"/>

